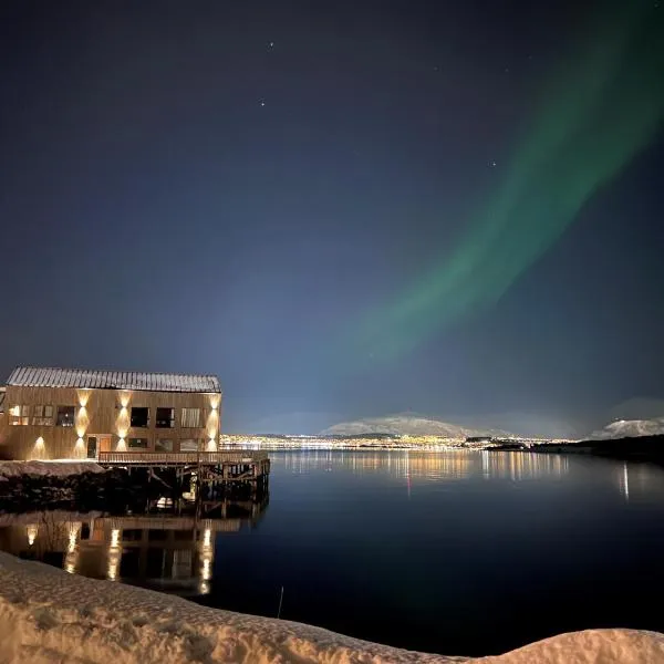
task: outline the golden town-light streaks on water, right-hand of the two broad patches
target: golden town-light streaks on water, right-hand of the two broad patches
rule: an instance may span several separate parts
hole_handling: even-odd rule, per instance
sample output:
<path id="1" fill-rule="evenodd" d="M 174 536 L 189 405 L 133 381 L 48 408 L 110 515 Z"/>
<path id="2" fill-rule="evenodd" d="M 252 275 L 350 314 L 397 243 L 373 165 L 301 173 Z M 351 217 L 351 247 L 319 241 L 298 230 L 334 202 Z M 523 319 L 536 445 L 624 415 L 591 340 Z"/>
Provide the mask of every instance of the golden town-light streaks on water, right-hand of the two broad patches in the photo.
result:
<path id="1" fill-rule="evenodd" d="M 488 452 L 483 450 L 481 469 L 485 478 L 540 479 L 562 477 L 569 470 L 569 460 L 564 455 L 537 454 L 530 452 Z"/>

